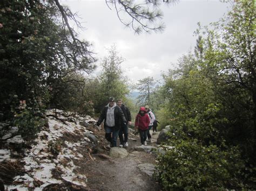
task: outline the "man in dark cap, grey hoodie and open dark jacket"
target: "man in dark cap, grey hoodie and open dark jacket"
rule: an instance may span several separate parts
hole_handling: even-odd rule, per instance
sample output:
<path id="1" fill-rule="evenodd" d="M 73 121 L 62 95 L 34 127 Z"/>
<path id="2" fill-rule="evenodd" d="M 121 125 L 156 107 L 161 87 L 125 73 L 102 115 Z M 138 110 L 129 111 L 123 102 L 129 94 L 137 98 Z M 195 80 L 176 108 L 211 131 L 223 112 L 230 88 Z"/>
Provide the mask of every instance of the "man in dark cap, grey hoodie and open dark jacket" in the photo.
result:
<path id="1" fill-rule="evenodd" d="M 105 120 L 104 120 L 105 119 Z M 126 119 L 121 108 L 114 101 L 114 97 L 109 98 L 102 113 L 99 116 L 97 125 L 99 126 L 104 120 L 105 138 L 110 142 L 110 147 L 117 146 L 118 132 L 121 126 L 126 126 Z M 112 136 L 111 136 L 112 133 Z"/>

